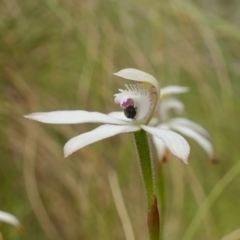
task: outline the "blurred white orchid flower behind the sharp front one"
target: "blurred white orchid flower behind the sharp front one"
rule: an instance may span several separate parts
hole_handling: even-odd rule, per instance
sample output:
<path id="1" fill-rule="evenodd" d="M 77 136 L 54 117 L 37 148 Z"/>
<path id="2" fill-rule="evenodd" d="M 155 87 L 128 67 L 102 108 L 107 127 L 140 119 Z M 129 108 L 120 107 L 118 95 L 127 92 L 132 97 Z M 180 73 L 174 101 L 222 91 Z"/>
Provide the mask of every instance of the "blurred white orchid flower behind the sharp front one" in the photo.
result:
<path id="1" fill-rule="evenodd" d="M 161 93 L 164 93 L 164 97 L 157 110 L 159 118 L 153 118 L 151 120 L 151 125 L 161 129 L 165 128 L 168 130 L 173 130 L 186 137 L 192 138 L 203 148 L 209 159 L 214 161 L 214 151 L 209 140 L 209 134 L 202 126 L 186 118 L 169 118 L 168 111 L 170 109 L 177 114 L 181 114 L 184 111 L 184 104 L 176 98 L 173 98 L 171 95 L 184 93 L 187 91 L 188 88 L 181 86 L 168 86 L 162 88 Z M 159 124 L 159 122 L 161 123 Z M 163 141 L 161 141 L 159 138 L 153 137 L 153 142 L 156 146 L 159 159 L 166 159 L 168 157 L 168 151 Z"/>

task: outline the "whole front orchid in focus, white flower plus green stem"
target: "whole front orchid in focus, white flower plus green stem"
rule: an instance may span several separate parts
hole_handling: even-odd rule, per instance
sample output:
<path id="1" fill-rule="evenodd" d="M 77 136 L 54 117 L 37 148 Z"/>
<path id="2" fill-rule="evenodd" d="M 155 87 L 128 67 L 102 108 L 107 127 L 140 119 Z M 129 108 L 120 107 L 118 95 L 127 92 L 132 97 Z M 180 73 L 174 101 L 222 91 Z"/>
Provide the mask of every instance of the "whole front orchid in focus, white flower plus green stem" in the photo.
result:
<path id="1" fill-rule="evenodd" d="M 133 132 L 148 201 L 149 237 L 151 240 L 157 240 L 159 239 L 159 214 L 147 133 L 161 139 L 169 151 L 185 163 L 190 151 L 189 145 L 181 135 L 171 130 L 148 126 L 160 99 L 160 87 L 153 76 L 131 68 L 123 69 L 115 75 L 135 82 L 135 84 L 126 85 L 125 90 L 120 89 L 120 92 L 114 95 L 115 103 L 119 104 L 123 111 L 109 114 L 83 110 L 53 111 L 31 113 L 25 117 L 53 124 L 103 123 L 90 132 L 70 139 L 64 146 L 65 157 L 99 140 L 120 133 Z"/>

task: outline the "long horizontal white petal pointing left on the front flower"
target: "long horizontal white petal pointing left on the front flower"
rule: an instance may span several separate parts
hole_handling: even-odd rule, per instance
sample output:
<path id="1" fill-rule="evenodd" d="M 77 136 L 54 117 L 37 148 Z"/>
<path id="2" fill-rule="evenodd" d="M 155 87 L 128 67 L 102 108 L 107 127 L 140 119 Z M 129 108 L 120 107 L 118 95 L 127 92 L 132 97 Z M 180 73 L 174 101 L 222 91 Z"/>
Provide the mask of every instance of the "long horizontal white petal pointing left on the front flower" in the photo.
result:
<path id="1" fill-rule="evenodd" d="M 126 121 L 116 119 L 107 114 L 99 112 L 87 111 L 54 111 L 54 112 L 37 112 L 24 116 L 30 120 L 43 123 L 54 124 L 75 124 L 75 123 L 110 123 L 110 124 L 126 124 Z"/>

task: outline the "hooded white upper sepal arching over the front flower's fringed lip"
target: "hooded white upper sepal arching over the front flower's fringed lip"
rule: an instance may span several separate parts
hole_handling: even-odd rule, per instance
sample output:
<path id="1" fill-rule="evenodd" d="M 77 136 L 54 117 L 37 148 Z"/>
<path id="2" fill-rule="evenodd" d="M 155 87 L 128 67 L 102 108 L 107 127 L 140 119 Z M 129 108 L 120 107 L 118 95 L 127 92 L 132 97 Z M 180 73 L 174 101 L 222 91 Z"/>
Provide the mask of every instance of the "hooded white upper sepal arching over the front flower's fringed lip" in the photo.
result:
<path id="1" fill-rule="evenodd" d="M 157 91 L 159 91 L 159 84 L 156 78 L 141 70 L 134 68 L 125 68 L 117 73 L 114 73 L 114 75 L 137 82 L 148 82 L 153 85 Z"/>

